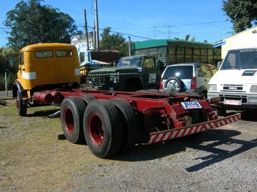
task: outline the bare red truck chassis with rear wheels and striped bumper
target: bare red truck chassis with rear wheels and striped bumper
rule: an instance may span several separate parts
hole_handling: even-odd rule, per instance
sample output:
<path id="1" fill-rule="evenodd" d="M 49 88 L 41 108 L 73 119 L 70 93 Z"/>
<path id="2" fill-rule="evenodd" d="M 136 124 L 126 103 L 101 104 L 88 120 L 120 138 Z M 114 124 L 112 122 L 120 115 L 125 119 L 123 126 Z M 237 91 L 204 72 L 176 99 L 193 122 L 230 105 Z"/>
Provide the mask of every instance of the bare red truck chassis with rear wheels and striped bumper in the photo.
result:
<path id="1" fill-rule="evenodd" d="M 135 143 L 166 141 L 240 120 L 240 113 L 218 119 L 210 106 L 215 99 L 192 95 L 59 89 L 34 93 L 33 99 L 61 104 L 65 137 L 72 143 L 86 139 L 93 154 L 101 158 Z M 198 102 L 201 109 L 184 109 L 182 102 Z"/>

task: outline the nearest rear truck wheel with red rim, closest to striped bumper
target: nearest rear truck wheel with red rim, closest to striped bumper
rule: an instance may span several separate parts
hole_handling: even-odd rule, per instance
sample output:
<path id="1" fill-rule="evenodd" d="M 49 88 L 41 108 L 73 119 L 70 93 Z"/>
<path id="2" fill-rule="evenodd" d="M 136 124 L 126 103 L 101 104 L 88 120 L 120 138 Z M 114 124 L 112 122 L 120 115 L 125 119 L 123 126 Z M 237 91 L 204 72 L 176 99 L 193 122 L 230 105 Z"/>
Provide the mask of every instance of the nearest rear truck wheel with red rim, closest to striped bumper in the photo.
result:
<path id="1" fill-rule="evenodd" d="M 86 107 L 84 134 L 89 149 L 104 158 L 116 154 L 123 142 L 123 129 L 116 106 L 107 100 L 96 99 Z"/>

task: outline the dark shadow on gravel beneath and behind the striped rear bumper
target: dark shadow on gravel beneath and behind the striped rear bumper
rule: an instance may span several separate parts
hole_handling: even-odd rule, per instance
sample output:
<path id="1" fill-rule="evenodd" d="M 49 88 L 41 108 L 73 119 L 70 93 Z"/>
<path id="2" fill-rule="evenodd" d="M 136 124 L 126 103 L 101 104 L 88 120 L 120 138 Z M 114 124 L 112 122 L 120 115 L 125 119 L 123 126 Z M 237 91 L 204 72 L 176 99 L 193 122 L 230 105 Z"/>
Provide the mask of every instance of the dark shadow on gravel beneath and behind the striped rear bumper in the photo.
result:
<path id="1" fill-rule="evenodd" d="M 172 158 L 172 154 L 176 155 L 178 152 L 185 151 L 186 148 L 211 153 L 208 156 L 196 158 L 203 161 L 186 168 L 188 172 L 194 172 L 257 147 L 257 139 L 244 141 L 232 138 L 233 136 L 238 136 L 240 134 L 240 131 L 235 130 L 211 130 L 201 134 L 166 141 L 164 143 L 136 145 L 130 152 L 120 154 L 113 159 L 118 161 L 147 161 L 166 156 L 171 156 Z M 208 144 L 206 144 L 206 142 L 208 142 Z M 239 144 L 240 147 L 233 151 L 219 149 L 220 145 L 232 144 Z M 192 161 L 194 161 L 194 159 L 192 159 Z"/>

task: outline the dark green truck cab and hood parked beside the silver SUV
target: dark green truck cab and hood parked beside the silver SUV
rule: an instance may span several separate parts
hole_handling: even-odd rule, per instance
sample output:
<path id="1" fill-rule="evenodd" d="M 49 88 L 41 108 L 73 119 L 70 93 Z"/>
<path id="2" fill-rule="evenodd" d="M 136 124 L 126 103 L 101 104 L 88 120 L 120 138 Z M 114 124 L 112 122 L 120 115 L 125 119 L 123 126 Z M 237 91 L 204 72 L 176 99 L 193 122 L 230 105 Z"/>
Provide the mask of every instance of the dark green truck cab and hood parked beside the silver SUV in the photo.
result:
<path id="1" fill-rule="evenodd" d="M 116 67 L 92 70 L 87 86 L 99 90 L 158 89 L 162 63 L 155 56 L 126 56 Z"/>

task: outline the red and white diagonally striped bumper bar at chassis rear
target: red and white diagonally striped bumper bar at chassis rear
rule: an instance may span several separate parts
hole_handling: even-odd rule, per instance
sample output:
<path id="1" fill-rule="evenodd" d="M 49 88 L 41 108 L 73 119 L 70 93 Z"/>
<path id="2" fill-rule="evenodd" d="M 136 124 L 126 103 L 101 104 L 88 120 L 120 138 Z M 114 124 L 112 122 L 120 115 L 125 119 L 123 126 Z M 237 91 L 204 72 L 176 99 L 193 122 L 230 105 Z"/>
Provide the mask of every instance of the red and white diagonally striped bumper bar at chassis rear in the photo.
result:
<path id="1" fill-rule="evenodd" d="M 191 134 L 200 133 L 210 129 L 216 129 L 224 125 L 228 125 L 232 122 L 237 122 L 241 119 L 241 113 L 236 113 L 235 115 L 230 115 L 226 118 L 221 118 L 217 120 L 211 120 L 209 122 L 201 122 L 188 127 L 182 127 L 179 129 L 170 129 L 166 131 L 158 131 L 150 134 L 149 143 L 157 143 L 161 141 L 170 140 L 172 138 L 179 138 L 182 136 L 187 136 Z"/>

